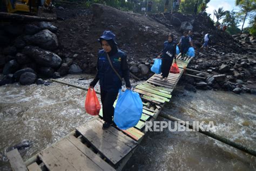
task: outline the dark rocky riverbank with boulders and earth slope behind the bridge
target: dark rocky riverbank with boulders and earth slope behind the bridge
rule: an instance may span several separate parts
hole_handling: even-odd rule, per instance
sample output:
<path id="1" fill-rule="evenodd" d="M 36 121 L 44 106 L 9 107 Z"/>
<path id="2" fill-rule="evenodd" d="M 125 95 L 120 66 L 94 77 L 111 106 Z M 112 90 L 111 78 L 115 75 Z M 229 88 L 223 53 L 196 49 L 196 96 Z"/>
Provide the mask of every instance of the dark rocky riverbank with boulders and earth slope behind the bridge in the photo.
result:
<path id="1" fill-rule="evenodd" d="M 1 25 L 1 85 L 14 81 L 43 83 L 38 78 L 58 78 L 68 73 L 95 73 L 100 49 L 97 39 L 104 30 L 116 34 L 131 73 L 147 79 L 153 74 L 153 58 L 163 49 L 168 33 L 173 33 L 178 42 L 184 30 L 193 30 L 196 57 L 188 68 L 208 74 L 192 73 L 206 79 L 186 76 L 184 82 L 204 90 L 254 93 L 255 38 L 216 30 L 210 18 L 179 12 L 145 16 L 101 4 L 90 9 L 63 4 L 57 8 L 57 16 L 52 23 Z M 210 48 L 199 51 L 205 33 L 212 35 Z"/>

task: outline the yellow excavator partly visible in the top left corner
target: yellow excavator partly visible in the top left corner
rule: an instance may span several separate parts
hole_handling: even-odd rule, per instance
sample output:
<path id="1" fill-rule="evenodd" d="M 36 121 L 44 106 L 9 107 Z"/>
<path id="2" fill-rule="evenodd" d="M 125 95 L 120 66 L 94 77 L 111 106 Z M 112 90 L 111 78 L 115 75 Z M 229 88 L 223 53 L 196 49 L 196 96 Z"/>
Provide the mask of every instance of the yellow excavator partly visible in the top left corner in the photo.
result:
<path id="1" fill-rule="evenodd" d="M 13 13 L 15 15 L 56 18 L 52 0 L 3 0 L 3 2 L 2 11 L 4 9 L 4 12 L 6 12 L 5 16 Z"/>

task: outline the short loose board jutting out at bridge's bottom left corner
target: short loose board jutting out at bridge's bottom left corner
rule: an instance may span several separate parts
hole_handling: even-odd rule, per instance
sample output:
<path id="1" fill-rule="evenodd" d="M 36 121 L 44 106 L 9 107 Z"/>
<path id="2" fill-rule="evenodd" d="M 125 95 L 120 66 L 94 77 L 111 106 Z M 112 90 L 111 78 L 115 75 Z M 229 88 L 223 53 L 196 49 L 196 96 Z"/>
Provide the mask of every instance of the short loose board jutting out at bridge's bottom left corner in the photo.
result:
<path id="1" fill-rule="evenodd" d="M 10 152 L 7 152 L 6 155 L 7 155 L 7 158 L 9 159 L 12 170 L 14 170 L 14 171 L 28 170 L 28 169 L 26 169 L 26 165 L 25 165 L 21 155 L 19 154 L 17 148 L 13 149 Z"/>

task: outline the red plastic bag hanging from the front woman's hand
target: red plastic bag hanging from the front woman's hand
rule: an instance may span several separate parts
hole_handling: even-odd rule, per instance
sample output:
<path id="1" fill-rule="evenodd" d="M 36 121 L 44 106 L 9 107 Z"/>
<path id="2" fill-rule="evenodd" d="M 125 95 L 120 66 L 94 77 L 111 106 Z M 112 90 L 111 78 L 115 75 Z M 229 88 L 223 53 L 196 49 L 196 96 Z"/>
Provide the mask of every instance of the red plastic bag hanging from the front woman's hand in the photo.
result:
<path id="1" fill-rule="evenodd" d="M 89 88 L 85 99 L 85 111 L 91 115 L 98 115 L 100 104 L 94 88 Z"/>

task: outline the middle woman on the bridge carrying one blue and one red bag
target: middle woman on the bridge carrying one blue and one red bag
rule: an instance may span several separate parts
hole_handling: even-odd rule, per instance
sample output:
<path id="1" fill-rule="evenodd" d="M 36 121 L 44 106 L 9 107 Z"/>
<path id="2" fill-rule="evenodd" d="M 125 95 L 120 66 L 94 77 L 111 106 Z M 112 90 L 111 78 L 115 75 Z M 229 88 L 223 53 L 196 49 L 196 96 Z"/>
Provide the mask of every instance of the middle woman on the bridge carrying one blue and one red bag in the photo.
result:
<path id="1" fill-rule="evenodd" d="M 168 35 L 168 40 L 164 42 L 164 49 L 157 58 L 162 58 L 161 71 L 162 77 L 160 79 L 168 80 L 169 71 L 172 65 L 173 58 L 176 61 L 176 42 L 172 34 Z"/>

